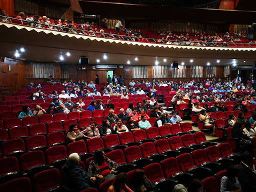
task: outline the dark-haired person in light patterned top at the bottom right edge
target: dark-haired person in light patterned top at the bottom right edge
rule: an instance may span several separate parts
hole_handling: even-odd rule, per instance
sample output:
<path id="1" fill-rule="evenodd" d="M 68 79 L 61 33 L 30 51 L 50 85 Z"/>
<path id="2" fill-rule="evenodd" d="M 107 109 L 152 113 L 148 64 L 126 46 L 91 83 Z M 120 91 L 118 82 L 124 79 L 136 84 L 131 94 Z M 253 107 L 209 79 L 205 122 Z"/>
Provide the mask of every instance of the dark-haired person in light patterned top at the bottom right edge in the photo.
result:
<path id="1" fill-rule="evenodd" d="M 242 191 L 240 183 L 238 181 L 239 169 L 230 165 L 226 169 L 225 176 L 223 176 L 220 180 L 220 192 L 225 191 Z"/>

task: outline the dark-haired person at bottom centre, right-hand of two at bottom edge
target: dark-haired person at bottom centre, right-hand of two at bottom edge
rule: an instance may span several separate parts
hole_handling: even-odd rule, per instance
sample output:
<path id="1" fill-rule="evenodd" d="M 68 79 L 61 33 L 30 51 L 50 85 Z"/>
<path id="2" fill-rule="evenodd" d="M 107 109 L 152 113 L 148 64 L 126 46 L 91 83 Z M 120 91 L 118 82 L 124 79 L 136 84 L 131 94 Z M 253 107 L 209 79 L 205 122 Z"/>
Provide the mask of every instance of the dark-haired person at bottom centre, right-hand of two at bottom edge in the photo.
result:
<path id="1" fill-rule="evenodd" d="M 132 177 L 131 190 L 134 192 L 150 191 L 158 192 L 159 189 L 149 179 L 146 178 L 144 170 L 135 169 Z"/>

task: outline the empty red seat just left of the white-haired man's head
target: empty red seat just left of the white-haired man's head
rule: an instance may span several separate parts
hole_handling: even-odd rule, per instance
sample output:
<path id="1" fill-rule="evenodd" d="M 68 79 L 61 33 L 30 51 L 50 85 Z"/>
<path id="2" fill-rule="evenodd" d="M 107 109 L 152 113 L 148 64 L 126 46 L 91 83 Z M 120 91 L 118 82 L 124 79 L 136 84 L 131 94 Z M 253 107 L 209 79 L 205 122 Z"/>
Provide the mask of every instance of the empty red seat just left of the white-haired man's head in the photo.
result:
<path id="1" fill-rule="evenodd" d="M 47 164 L 52 164 L 55 168 L 60 169 L 66 162 L 66 148 L 62 145 L 52 146 L 45 151 Z"/>

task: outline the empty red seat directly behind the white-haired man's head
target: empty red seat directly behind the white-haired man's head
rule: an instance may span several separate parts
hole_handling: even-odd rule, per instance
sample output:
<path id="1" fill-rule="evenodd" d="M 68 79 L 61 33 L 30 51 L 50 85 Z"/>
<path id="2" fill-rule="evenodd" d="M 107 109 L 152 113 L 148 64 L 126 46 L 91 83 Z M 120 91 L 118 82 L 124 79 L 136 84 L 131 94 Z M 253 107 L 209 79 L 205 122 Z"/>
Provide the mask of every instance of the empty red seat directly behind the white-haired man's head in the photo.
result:
<path id="1" fill-rule="evenodd" d="M 67 145 L 67 154 L 71 154 L 73 152 L 78 153 L 81 158 L 81 161 L 85 162 L 85 160 L 92 156 L 92 153 L 87 153 L 87 149 L 84 141 L 76 141 L 71 142 Z"/>

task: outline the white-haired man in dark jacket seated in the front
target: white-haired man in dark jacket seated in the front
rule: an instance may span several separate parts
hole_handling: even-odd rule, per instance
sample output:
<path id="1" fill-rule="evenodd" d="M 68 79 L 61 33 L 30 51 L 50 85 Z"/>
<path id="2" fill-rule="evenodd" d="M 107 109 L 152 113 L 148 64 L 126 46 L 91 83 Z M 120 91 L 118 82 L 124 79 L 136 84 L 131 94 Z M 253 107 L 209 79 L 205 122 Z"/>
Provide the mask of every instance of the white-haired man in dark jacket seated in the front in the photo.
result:
<path id="1" fill-rule="evenodd" d="M 74 152 L 68 156 L 67 161 L 63 165 L 65 186 L 73 192 L 78 192 L 87 188 L 90 188 L 89 181 L 94 182 L 95 177 L 90 177 L 89 174 L 83 170 L 79 165 L 80 157 Z"/>

